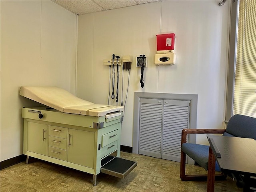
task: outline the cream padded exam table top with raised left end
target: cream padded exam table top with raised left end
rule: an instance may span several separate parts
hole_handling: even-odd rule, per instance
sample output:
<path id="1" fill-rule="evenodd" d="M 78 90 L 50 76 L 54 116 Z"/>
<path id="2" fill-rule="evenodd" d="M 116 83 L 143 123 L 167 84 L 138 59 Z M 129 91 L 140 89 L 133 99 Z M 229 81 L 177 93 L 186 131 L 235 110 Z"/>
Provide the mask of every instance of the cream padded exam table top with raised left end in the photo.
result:
<path id="1" fill-rule="evenodd" d="M 124 111 L 124 106 L 94 104 L 53 86 L 21 86 L 20 95 L 63 113 L 100 117 Z"/>

